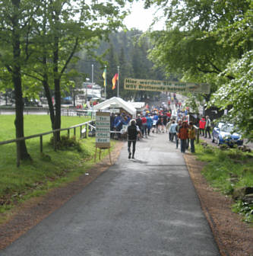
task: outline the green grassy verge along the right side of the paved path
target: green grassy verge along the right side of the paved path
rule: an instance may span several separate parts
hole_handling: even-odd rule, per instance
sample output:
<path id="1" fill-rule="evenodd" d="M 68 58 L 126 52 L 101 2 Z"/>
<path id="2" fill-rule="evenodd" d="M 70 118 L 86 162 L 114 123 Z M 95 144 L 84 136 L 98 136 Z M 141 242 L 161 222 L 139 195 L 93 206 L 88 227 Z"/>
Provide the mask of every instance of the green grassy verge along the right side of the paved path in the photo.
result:
<path id="1" fill-rule="evenodd" d="M 203 174 L 214 189 L 232 197 L 237 188 L 253 187 L 252 153 L 197 145 L 196 155 L 198 160 L 207 162 Z M 242 214 L 245 222 L 253 223 L 253 205 L 237 200 L 232 210 Z"/>

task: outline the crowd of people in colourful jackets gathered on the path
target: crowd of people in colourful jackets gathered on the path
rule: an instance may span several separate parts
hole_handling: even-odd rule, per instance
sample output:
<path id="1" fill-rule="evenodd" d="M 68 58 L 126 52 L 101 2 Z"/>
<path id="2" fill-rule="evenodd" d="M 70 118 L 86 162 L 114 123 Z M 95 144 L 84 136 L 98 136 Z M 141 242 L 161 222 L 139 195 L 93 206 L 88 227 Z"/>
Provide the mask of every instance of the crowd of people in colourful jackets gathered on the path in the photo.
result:
<path id="1" fill-rule="evenodd" d="M 163 106 L 154 107 L 144 110 L 138 114 L 136 119 L 131 120 L 131 116 L 125 114 L 112 114 L 111 130 L 118 133 L 120 138 L 122 134 L 122 126 L 127 126 L 126 134 L 128 139 L 128 158 L 134 158 L 136 142 L 141 138 L 147 138 L 150 133 L 168 133 L 169 141 L 176 142 L 176 149 L 179 148 L 184 153 L 190 147 L 192 153 L 195 152 L 194 140 L 196 139 L 196 131 L 192 122 L 188 120 L 188 109 L 180 109 L 176 113 L 176 117 L 172 117 L 172 110 Z M 197 124 L 197 123 L 196 123 Z M 201 117 L 199 121 L 200 133 L 210 138 L 210 118 Z M 132 149 L 131 149 L 132 148 Z"/>

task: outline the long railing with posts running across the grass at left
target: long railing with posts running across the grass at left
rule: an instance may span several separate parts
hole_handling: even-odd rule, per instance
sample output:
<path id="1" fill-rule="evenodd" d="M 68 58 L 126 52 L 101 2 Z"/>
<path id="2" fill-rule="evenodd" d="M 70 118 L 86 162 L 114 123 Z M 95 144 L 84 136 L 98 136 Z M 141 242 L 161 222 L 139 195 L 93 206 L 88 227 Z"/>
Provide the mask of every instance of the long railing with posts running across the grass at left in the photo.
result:
<path id="1" fill-rule="evenodd" d="M 76 130 L 77 130 L 78 127 L 80 127 L 80 138 L 87 138 L 87 131 L 88 131 L 87 127 L 90 126 L 90 127 L 93 128 L 93 126 L 90 124 L 91 122 L 92 122 L 92 120 L 87 121 L 85 123 L 77 124 L 75 126 L 70 126 L 68 128 L 55 129 L 55 130 L 52 130 L 52 131 L 49 131 L 49 132 L 46 132 L 46 133 L 38 133 L 38 134 L 35 134 L 35 135 L 31 135 L 31 136 L 25 136 L 25 137 L 21 137 L 21 138 L 17 138 L 17 139 L 6 140 L 6 141 L 3 141 L 3 142 L 0 142 L 0 146 L 16 142 L 17 143 L 17 148 L 18 148 L 18 143 L 21 142 L 22 140 L 33 139 L 33 138 L 40 137 L 40 153 L 43 153 L 43 136 L 46 136 L 46 135 L 49 135 L 49 134 L 53 133 L 54 134 L 54 149 L 56 151 L 55 133 L 67 130 L 68 131 L 68 137 L 69 137 L 70 136 L 70 130 L 73 129 L 74 130 L 74 136 L 76 136 Z M 84 126 L 85 126 L 85 130 L 83 130 Z M 20 155 L 17 151 L 17 167 L 20 165 L 20 163 L 21 163 L 21 158 L 20 158 Z"/>

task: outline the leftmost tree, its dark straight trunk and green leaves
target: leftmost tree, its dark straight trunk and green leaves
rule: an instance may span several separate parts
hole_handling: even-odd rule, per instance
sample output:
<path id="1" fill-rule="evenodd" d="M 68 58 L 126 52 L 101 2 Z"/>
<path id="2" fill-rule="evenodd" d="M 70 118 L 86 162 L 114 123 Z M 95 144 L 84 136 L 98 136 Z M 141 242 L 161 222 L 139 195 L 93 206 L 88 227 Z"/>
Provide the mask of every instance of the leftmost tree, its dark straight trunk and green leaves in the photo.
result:
<path id="1" fill-rule="evenodd" d="M 32 17 L 36 11 L 36 1 L 11 0 L 0 2 L 0 61 L 4 72 L 9 72 L 14 87 L 16 138 L 24 137 L 24 101 L 22 88 L 22 68 L 27 54 L 28 38 Z M 17 142 L 17 155 L 21 160 L 30 158 L 24 140 Z"/>

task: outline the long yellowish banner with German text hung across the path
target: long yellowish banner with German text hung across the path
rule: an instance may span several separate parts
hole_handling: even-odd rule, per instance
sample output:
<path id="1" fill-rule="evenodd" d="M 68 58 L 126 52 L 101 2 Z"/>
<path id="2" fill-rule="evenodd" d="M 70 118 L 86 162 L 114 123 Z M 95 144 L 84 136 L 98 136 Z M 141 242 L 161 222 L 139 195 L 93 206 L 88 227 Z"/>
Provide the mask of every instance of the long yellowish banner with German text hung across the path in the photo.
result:
<path id="1" fill-rule="evenodd" d="M 210 93 L 210 85 L 195 84 L 191 82 L 172 82 L 161 80 L 146 80 L 125 78 L 124 89 L 133 91 L 169 91 L 169 92 L 193 92 Z"/>

